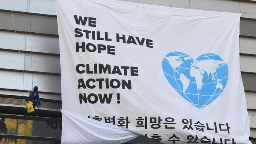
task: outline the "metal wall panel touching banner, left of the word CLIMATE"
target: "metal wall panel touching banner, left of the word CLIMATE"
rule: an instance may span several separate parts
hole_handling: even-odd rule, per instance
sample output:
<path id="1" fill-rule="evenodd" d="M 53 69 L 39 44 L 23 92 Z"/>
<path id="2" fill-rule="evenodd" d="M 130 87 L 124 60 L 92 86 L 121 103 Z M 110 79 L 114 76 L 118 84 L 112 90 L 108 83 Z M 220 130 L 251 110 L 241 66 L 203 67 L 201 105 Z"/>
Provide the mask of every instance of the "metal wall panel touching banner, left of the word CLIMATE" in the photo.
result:
<path id="1" fill-rule="evenodd" d="M 32 65 L 31 65 L 32 58 Z M 25 54 L 25 70 L 33 70 L 39 72 L 52 72 L 60 74 L 59 56 L 41 55 L 41 54 Z"/>

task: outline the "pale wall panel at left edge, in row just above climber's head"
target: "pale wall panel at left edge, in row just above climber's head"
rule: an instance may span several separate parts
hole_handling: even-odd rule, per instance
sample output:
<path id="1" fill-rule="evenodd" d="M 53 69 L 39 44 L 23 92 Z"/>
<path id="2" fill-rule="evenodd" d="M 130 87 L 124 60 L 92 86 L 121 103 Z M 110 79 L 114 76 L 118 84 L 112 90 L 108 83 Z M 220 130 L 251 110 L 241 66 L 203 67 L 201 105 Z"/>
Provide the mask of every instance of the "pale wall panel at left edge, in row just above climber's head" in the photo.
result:
<path id="1" fill-rule="evenodd" d="M 23 89 L 23 73 L 0 70 L 0 88 Z"/>

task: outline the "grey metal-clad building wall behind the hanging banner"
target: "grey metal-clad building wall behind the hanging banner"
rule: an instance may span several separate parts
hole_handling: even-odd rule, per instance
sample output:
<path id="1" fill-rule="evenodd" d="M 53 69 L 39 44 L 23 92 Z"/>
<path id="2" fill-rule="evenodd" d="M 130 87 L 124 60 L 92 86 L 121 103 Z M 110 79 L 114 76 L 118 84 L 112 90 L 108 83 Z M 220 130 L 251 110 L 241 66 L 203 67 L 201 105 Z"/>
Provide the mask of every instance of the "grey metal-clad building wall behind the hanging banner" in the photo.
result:
<path id="1" fill-rule="evenodd" d="M 248 113 L 251 116 L 250 136 L 256 138 L 256 115 L 252 116 L 256 114 L 256 0 L 125 1 L 243 13 L 239 36 L 240 67 Z M 46 100 L 42 104 L 42 109 L 59 111 L 58 108 L 61 108 L 59 103 L 47 101 L 61 100 L 55 1 L 11 0 L 11 6 L 14 11 L 17 36 L 14 32 L 9 0 L 0 2 L 0 106 L 24 107 L 24 100 L 19 98 L 28 96 L 28 90 L 37 85 L 41 98 Z"/>

